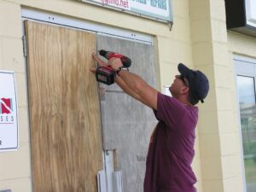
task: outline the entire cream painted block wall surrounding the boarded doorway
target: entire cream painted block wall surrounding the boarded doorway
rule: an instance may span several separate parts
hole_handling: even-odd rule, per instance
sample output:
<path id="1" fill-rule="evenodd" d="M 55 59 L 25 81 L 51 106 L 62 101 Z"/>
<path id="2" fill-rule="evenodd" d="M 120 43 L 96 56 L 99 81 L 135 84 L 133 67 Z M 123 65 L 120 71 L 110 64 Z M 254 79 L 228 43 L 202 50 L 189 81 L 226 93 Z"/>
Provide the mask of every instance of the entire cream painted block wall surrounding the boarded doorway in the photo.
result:
<path id="1" fill-rule="evenodd" d="M 19 104 L 20 148 L 0 153 L 0 189 L 32 191 L 26 61 L 21 8 L 41 9 L 154 36 L 159 90 L 172 84 L 177 64 L 205 72 L 211 89 L 200 104 L 193 169 L 198 192 L 241 192 L 236 84 L 232 53 L 252 55 L 254 39 L 227 33 L 224 0 L 172 0 L 174 25 L 139 18 L 79 1 L 0 0 L 0 69 L 15 71 Z M 254 51 L 255 53 L 255 51 Z"/>

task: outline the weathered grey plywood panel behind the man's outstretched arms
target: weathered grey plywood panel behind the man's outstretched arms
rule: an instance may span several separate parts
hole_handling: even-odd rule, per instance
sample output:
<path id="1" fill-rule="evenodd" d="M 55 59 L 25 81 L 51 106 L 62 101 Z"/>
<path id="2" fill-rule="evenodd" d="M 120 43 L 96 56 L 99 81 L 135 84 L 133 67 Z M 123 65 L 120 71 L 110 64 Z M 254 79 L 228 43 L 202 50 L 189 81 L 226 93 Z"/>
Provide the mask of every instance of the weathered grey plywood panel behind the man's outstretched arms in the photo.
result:
<path id="1" fill-rule="evenodd" d="M 154 47 L 119 38 L 97 36 L 97 49 L 131 58 L 130 71 L 156 86 Z M 122 170 L 125 192 L 143 191 L 149 137 L 156 120 L 151 108 L 127 96 L 116 84 L 100 84 L 104 149 L 116 149 L 116 168 Z"/>

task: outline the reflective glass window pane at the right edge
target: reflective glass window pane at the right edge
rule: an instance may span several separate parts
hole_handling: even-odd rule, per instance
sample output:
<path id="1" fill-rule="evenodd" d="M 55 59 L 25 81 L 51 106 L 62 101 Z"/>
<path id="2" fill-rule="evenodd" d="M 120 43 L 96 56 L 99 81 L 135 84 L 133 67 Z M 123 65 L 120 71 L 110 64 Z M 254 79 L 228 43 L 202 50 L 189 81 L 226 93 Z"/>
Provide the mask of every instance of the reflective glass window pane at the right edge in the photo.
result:
<path id="1" fill-rule="evenodd" d="M 252 77 L 237 76 L 247 192 L 256 191 L 256 109 Z"/>

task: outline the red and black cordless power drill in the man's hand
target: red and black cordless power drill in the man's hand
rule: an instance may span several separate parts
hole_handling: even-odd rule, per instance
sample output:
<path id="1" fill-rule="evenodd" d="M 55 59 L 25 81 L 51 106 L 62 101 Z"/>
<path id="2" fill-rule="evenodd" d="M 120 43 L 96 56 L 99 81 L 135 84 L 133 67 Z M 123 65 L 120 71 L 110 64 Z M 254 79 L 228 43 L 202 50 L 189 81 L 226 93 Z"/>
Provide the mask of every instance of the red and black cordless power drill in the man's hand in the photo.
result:
<path id="1" fill-rule="evenodd" d="M 131 66 L 131 59 L 125 55 L 121 55 L 119 53 L 114 53 L 111 51 L 106 51 L 103 49 L 99 51 L 99 54 L 104 56 L 108 60 L 113 57 L 119 58 L 122 61 L 124 68 L 128 68 Z M 113 84 L 115 75 L 116 75 L 116 72 L 110 66 L 96 68 L 96 80 L 99 82 L 102 82 L 103 84 L 108 84 L 108 85 Z"/>

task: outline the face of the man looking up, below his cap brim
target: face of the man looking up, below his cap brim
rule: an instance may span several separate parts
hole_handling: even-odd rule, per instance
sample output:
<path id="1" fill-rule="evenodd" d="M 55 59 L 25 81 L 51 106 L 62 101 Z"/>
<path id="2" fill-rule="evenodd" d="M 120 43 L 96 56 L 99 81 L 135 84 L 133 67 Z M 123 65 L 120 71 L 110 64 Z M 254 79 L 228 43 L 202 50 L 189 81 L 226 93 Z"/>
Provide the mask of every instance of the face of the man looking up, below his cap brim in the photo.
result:
<path id="1" fill-rule="evenodd" d="M 177 97 L 178 95 L 183 93 L 185 88 L 189 87 L 189 82 L 182 75 L 176 75 L 173 80 L 172 85 L 169 90 L 172 93 L 172 96 Z"/>

